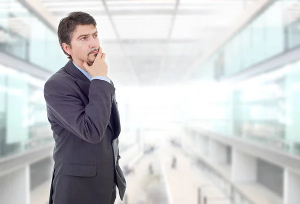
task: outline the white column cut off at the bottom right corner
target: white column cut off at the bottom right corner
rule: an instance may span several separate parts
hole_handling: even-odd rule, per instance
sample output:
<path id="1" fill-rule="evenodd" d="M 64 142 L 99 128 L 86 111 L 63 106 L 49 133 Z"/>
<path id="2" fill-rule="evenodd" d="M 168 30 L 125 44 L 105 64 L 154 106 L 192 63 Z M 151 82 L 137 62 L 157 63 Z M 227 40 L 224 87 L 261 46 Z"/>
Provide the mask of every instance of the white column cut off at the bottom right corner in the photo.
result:
<path id="1" fill-rule="evenodd" d="M 300 203 L 300 175 L 285 168 L 283 178 L 283 204 Z"/>

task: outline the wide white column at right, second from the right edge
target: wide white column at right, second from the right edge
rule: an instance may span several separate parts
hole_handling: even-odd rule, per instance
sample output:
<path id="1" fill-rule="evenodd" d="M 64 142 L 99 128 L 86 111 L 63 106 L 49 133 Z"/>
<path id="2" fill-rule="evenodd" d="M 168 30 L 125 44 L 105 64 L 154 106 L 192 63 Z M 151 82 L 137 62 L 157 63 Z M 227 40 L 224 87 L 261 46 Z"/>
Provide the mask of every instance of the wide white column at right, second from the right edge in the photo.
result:
<path id="1" fill-rule="evenodd" d="M 236 148 L 232 148 L 232 181 L 256 181 L 257 160 L 255 157 L 246 154 Z"/>

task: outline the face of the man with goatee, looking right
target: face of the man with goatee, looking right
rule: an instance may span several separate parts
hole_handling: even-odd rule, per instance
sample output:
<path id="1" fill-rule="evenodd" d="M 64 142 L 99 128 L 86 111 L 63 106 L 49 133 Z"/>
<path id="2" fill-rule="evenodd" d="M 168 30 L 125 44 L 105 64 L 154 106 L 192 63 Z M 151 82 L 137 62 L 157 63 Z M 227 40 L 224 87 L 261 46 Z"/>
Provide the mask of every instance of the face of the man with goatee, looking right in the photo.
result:
<path id="1" fill-rule="evenodd" d="M 70 49 L 74 62 L 82 60 L 91 65 L 99 49 L 97 29 L 93 25 L 77 25 L 72 34 Z"/>

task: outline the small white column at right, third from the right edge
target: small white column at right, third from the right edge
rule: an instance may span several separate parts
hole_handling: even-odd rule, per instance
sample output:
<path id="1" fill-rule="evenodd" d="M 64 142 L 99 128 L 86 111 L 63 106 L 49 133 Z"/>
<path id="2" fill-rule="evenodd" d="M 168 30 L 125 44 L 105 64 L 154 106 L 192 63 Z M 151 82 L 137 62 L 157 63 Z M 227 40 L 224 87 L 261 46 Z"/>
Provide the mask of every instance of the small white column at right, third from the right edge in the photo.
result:
<path id="1" fill-rule="evenodd" d="M 225 164 L 227 160 L 227 149 L 226 145 L 209 139 L 208 142 L 208 155 L 210 161 L 216 164 Z"/>

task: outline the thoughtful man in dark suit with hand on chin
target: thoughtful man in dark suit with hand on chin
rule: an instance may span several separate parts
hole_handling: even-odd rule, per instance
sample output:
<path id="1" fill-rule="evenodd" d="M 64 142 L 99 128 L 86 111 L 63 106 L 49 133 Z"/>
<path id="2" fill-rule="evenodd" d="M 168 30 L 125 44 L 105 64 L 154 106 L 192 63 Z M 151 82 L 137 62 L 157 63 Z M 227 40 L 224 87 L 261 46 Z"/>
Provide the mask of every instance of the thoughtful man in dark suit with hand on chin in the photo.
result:
<path id="1" fill-rule="evenodd" d="M 120 121 L 96 22 L 84 12 L 60 20 L 59 44 L 70 59 L 44 85 L 55 141 L 49 203 L 114 203 L 126 182 L 118 160 Z"/>

